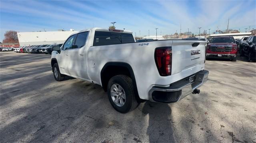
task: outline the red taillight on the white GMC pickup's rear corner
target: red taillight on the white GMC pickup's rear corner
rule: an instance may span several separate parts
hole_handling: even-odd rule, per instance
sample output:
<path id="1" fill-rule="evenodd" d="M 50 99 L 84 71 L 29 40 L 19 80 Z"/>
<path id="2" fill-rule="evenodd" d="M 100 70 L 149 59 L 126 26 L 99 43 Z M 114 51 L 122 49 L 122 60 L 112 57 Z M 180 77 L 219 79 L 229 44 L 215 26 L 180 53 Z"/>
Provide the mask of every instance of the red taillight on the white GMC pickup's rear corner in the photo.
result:
<path id="1" fill-rule="evenodd" d="M 172 73 L 172 47 L 156 48 L 155 61 L 156 61 L 156 67 L 161 76 L 171 75 L 171 73 Z"/>

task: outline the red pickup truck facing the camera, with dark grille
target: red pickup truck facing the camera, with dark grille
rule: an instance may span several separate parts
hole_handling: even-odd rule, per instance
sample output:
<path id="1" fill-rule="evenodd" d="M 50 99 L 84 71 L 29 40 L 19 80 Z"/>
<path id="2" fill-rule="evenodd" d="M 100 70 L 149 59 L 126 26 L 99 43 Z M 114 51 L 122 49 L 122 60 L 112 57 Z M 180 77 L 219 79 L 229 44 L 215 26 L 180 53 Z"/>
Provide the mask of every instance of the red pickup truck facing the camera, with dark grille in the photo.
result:
<path id="1" fill-rule="evenodd" d="M 210 43 L 206 46 L 206 59 L 219 58 L 236 61 L 237 52 L 238 50 L 234 37 L 213 37 Z"/>

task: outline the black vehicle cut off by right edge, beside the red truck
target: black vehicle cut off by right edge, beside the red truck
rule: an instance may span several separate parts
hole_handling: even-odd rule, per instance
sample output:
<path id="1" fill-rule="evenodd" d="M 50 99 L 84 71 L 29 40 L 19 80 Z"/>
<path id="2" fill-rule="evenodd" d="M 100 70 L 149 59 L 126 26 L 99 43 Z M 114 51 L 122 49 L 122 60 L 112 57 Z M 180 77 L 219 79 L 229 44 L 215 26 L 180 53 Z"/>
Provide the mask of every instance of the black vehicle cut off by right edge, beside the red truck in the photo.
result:
<path id="1" fill-rule="evenodd" d="M 248 61 L 256 61 L 256 35 L 250 36 L 240 46 L 240 56 L 246 56 Z"/>

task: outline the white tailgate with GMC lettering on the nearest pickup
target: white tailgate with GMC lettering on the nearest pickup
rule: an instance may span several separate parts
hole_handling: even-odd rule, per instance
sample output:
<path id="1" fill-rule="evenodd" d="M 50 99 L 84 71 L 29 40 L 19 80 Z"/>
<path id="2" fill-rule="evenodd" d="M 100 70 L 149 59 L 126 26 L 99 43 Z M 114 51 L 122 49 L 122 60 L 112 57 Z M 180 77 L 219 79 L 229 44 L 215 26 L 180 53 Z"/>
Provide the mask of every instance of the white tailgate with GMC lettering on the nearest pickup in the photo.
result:
<path id="1" fill-rule="evenodd" d="M 174 40 L 172 43 L 171 82 L 176 82 L 203 70 L 205 49 L 205 41 Z"/>

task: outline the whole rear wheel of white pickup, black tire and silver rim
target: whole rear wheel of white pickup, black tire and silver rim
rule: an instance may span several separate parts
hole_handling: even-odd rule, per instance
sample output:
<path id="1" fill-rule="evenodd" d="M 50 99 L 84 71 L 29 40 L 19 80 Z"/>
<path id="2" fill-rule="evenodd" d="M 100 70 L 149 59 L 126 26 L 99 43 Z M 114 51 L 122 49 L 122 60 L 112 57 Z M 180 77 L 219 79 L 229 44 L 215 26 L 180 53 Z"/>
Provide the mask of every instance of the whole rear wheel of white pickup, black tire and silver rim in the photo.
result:
<path id="1" fill-rule="evenodd" d="M 117 75 L 108 81 L 108 99 L 113 108 L 120 113 L 134 110 L 140 102 L 136 100 L 132 79 Z"/>

